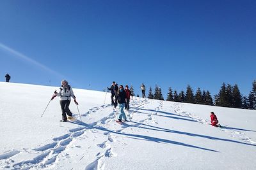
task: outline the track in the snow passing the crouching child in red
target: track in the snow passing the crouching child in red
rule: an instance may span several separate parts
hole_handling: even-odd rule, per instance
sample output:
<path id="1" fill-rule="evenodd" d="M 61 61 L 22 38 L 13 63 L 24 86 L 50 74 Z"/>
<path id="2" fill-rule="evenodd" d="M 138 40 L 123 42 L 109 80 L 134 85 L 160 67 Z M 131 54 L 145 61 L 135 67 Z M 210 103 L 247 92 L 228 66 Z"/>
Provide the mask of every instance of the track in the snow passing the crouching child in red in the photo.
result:
<path id="1" fill-rule="evenodd" d="M 187 111 L 183 111 L 180 106 L 181 104 L 180 103 L 175 103 L 174 104 L 174 112 L 177 113 L 178 115 L 181 115 L 181 116 L 185 116 L 185 117 L 188 117 L 188 118 L 192 118 L 193 120 L 196 120 L 196 122 L 199 122 L 201 124 L 207 124 L 209 125 L 209 122 L 207 120 L 205 120 L 204 118 L 200 118 L 196 115 L 193 115 L 191 113 L 188 113 Z M 223 132 L 227 132 L 228 134 L 230 134 L 230 136 L 232 136 L 233 138 L 238 138 L 240 140 L 242 140 L 243 142 L 246 142 L 246 143 L 250 143 L 252 145 L 256 145 L 256 142 L 253 141 L 251 138 L 249 138 L 248 136 L 246 136 L 246 134 L 244 132 L 241 132 L 241 131 L 238 131 L 238 130 L 235 130 L 235 129 L 228 129 L 227 128 L 220 128 L 219 129 Z"/>

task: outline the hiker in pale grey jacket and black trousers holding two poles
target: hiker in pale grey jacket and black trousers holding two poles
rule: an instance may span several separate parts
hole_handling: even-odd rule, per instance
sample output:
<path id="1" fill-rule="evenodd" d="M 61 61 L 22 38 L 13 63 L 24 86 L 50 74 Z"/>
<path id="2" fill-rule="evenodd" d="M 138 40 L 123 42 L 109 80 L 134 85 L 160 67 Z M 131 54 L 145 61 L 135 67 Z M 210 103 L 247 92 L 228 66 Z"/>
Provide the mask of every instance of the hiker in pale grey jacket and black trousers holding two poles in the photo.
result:
<path id="1" fill-rule="evenodd" d="M 68 108 L 71 101 L 71 97 L 74 99 L 74 102 L 78 105 L 76 97 L 74 96 L 74 92 L 70 85 L 68 85 L 68 81 L 61 81 L 60 92 L 55 92 L 55 96 L 53 96 L 52 99 L 54 99 L 54 97 L 56 96 L 60 97 L 60 106 L 62 111 L 61 122 L 67 122 L 67 115 L 69 116 L 68 118 L 72 118 L 72 113 Z"/>

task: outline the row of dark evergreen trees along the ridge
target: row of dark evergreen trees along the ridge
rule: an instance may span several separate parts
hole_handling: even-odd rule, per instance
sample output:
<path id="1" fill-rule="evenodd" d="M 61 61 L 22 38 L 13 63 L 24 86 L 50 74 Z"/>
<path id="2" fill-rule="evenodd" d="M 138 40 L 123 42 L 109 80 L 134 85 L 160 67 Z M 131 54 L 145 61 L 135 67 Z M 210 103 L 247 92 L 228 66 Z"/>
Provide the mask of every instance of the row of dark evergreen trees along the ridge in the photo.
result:
<path id="1" fill-rule="evenodd" d="M 188 85 L 186 94 L 183 90 L 178 94 L 177 90 L 172 90 L 169 87 L 169 92 L 167 94 L 166 101 L 176 101 L 183 103 L 195 103 L 195 104 L 207 104 L 207 105 L 215 105 L 215 106 L 224 106 L 230 108 L 244 108 L 244 109 L 256 109 L 256 80 L 252 83 L 252 91 L 249 96 L 242 96 L 237 84 L 233 87 L 230 84 L 223 83 L 221 85 L 220 92 L 214 96 L 214 101 L 212 99 L 211 93 L 207 90 L 201 90 L 198 88 L 196 93 L 193 94 L 193 89 Z M 131 87 L 131 92 L 134 94 L 133 89 Z M 153 94 L 152 88 L 149 87 L 148 91 L 148 99 L 157 99 L 164 100 L 161 87 L 156 85 L 155 91 Z"/>

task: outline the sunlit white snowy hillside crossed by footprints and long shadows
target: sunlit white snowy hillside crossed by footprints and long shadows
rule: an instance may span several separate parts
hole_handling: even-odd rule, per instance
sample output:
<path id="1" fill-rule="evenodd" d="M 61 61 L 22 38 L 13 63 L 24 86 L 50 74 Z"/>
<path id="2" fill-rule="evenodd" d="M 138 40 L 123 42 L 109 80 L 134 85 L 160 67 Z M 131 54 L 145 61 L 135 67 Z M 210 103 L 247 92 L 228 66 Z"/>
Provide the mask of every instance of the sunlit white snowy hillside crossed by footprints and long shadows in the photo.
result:
<path id="1" fill-rule="evenodd" d="M 83 122 L 74 101 L 60 122 L 54 90 L 0 82 L 0 169 L 256 169 L 256 111 L 134 97 L 120 125 L 109 93 L 73 89 Z"/>

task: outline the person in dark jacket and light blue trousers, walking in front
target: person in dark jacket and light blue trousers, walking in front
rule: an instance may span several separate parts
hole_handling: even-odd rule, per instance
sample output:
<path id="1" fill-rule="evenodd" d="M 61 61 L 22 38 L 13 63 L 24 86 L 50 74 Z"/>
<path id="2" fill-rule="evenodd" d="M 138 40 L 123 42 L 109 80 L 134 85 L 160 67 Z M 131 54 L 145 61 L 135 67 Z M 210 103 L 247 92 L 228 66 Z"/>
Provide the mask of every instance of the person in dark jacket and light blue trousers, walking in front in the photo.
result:
<path id="1" fill-rule="evenodd" d="M 126 101 L 127 101 L 127 97 L 126 97 L 124 87 L 123 87 L 123 85 L 120 85 L 118 92 L 117 92 L 117 102 L 118 102 L 118 106 L 120 108 L 118 122 L 122 122 L 122 118 L 124 118 L 124 120 L 127 121 L 126 115 L 124 113 L 124 106 L 125 106 Z"/>

